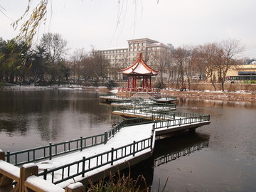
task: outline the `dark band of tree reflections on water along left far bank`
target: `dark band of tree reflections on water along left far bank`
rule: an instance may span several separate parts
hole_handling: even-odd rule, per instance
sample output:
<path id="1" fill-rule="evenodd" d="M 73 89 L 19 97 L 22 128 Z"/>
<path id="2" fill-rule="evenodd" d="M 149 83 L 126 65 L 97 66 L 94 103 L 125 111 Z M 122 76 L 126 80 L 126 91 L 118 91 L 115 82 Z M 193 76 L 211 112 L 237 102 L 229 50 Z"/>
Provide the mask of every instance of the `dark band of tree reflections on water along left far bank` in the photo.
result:
<path id="1" fill-rule="evenodd" d="M 48 113 L 63 110 L 90 114 L 107 112 L 100 107 L 97 92 L 73 90 L 3 91 L 0 94 L 0 112 L 10 114 Z"/>

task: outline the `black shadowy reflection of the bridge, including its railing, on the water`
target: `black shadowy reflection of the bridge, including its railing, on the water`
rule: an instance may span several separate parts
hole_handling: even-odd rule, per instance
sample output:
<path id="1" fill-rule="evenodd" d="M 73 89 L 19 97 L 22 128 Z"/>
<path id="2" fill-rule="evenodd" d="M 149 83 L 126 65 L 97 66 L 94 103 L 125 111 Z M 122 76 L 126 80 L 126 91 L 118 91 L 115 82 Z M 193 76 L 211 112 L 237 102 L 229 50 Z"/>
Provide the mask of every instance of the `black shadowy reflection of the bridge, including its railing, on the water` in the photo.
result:
<path id="1" fill-rule="evenodd" d="M 151 158 L 132 166 L 130 170 L 133 178 L 143 175 L 146 178 L 146 185 L 153 186 L 156 190 L 159 183 L 154 183 L 154 169 L 163 164 L 169 164 L 170 161 L 177 160 L 183 156 L 189 156 L 195 151 L 200 151 L 208 147 L 209 136 L 207 134 L 191 134 L 185 132 L 173 137 L 156 140 L 154 153 Z M 161 180 L 161 188 L 164 186 L 166 178 Z M 154 191 L 153 190 L 153 191 Z"/>

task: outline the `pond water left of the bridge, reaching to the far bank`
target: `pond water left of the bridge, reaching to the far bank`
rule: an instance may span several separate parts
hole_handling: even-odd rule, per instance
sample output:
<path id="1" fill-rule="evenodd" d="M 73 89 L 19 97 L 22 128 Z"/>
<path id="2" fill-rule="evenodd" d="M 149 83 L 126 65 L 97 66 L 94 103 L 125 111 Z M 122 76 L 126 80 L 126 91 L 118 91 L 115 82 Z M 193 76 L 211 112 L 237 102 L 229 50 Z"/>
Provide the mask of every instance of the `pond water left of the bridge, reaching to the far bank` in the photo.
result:
<path id="1" fill-rule="evenodd" d="M 105 132 L 121 118 L 99 101 L 97 92 L 82 90 L 0 91 L 1 149 L 16 151 Z"/>

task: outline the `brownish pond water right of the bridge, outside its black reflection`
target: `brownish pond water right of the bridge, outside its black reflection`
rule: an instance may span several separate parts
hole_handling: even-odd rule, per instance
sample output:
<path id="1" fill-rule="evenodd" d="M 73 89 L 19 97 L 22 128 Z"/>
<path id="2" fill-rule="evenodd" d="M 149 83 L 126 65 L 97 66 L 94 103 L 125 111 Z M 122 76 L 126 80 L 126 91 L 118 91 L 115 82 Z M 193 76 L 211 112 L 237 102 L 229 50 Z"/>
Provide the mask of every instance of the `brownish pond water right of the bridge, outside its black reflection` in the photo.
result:
<path id="1" fill-rule="evenodd" d="M 196 129 L 208 147 L 155 167 L 154 188 L 169 176 L 167 191 L 254 191 L 256 103 L 185 98 L 177 108 L 210 114 L 211 124 Z"/>

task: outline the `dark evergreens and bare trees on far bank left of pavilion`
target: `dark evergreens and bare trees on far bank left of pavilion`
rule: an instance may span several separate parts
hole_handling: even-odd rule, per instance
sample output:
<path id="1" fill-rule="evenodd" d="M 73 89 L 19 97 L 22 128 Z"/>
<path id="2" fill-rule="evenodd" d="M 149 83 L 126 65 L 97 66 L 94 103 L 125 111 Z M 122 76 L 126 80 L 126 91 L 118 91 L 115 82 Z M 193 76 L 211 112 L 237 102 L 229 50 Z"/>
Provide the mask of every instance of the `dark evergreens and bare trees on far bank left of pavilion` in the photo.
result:
<path id="1" fill-rule="evenodd" d="M 52 85 L 89 80 L 104 84 L 109 64 L 100 53 L 77 50 L 67 60 L 67 50 L 67 41 L 58 33 L 43 34 L 35 48 L 0 38 L 0 82 Z"/>

